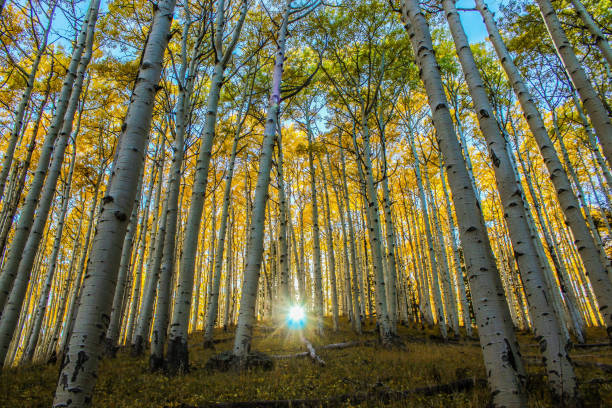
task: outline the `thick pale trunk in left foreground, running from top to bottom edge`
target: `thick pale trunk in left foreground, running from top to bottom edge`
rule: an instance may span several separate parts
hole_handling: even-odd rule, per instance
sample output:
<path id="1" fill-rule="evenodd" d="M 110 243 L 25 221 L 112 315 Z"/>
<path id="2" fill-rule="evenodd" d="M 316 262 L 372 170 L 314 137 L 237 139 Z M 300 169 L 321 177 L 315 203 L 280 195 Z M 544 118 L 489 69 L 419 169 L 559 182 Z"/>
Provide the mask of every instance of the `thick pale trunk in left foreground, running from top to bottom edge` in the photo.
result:
<path id="1" fill-rule="evenodd" d="M 110 317 L 127 219 L 132 212 L 155 93 L 170 33 L 175 0 L 157 3 L 117 146 L 113 173 L 102 199 L 81 303 L 64 354 L 54 406 L 91 405 L 98 361 Z"/>

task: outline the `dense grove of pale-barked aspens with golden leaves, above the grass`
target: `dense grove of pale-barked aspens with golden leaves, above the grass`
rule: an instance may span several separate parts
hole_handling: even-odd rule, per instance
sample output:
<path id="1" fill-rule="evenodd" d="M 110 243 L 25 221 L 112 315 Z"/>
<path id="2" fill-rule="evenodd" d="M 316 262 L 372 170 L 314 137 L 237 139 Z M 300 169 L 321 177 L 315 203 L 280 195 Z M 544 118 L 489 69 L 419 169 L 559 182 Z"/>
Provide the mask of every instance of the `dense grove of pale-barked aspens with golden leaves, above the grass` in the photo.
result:
<path id="1" fill-rule="evenodd" d="M 499 407 L 529 332 L 581 404 L 611 27 L 606 0 L 0 0 L 0 362 L 61 361 L 54 406 L 85 407 L 121 347 L 187 374 L 231 328 L 247 368 L 301 305 L 479 339 Z"/>

